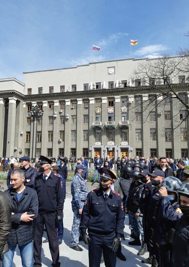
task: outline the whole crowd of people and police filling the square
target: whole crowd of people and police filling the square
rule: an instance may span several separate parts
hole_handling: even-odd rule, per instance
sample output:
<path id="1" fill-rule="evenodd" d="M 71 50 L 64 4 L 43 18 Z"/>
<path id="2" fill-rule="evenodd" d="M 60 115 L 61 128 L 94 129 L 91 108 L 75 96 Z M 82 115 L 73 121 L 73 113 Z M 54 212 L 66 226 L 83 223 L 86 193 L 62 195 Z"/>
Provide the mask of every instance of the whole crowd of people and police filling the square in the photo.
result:
<path id="1" fill-rule="evenodd" d="M 73 157 L 72 157 L 73 158 Z M 85 157 L 40 156 L 34 163 L 25 156 L 11 157 L 7 187 L 0 192 L 0 256 L 2 267 L 12 267 L 18 246 L 22 266 L 42 266 L 43 232 L 59 267 L 59 245 L 63 240 L 63 209 L 68 165 L 74 171 L 71 182 L 73 223 L 70 248 L 83 251 L 88 245 L 89 267 L 115 267 L 121 252 L 125 214 L 131 230 L 130 246 L 140 246 L 137 255 L 149 257 L 142 263 L 152 267 L 189 266 L 189 160 L 172 158 L 134 159 L 124 156 L 94 164 L 94 190 L 88 193 Z M 8 161 L 8 160 L 7 160 Z M 9 161 L 10 162 L 10 161 Z M 96 183 L 96 186 L 95 186 Z M 34 262 L 33 262 L 34 261 Z"/>

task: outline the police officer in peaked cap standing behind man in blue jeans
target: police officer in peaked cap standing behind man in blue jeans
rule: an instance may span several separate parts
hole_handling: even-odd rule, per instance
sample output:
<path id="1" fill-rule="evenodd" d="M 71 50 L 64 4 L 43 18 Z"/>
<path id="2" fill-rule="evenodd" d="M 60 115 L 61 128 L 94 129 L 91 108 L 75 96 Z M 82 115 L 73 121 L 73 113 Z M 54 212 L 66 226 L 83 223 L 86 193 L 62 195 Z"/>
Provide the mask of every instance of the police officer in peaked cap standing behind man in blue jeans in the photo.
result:
<path id="1" fill-rule="evenodd" d="M 38 216 L 34 233 L 34 266 L 41 266 L 41 247 L 43 228 L 47 231 L 49 248 L 52 256 L 52 266 L 59 267 L 59 247 L 57 224 L 62 220 L 64 196 L 61 181 L 51 170 L 52 160 L 40 156 L 41 174 L 35 178 L 34 188 L 39 201 Z"/>

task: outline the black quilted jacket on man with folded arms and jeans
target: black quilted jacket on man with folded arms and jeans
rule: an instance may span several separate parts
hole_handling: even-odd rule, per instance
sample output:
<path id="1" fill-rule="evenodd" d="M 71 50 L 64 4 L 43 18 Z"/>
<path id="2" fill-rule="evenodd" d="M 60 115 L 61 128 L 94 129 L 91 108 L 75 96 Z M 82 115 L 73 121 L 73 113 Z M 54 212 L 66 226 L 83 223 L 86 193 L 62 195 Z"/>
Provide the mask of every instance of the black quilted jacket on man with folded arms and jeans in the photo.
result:
<path id="1" fill-rule="evenodd" d="M 15 189 L 11 188 L 6 190 L 5 193 L 11 201 L 12 212 L 14 213 L 14 215 L 11 216 L 12 225 L 11 233 L 8 235 L 8 245 L 27 245 L 32 242 L 34 238 L 33 221 L 20 221 L 20 217 L 24 212 L 35 214 L 33 219 L 37 217 L 38 200 L 36 191 L 29 186 L 26 186 L 19 202 L 17 201 L 17 193 Z"/>

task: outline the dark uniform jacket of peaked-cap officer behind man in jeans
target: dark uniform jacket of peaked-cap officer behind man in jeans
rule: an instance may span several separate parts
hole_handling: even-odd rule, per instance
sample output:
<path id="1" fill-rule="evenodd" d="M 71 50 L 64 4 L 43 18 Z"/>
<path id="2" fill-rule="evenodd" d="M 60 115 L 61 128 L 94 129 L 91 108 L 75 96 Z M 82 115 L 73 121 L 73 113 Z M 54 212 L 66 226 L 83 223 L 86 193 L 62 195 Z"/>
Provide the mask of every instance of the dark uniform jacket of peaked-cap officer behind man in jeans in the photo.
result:
<path id="1" fill-rule="evenodd" d="M 39 201 L 39 213 L 57 212 L 58 217 L 62 217 L 64 207 L 64 192 L 60 178 L 51 171 L 47 180 L 44 181 L 43 173 L 35 178 L 34 188 Z"/>

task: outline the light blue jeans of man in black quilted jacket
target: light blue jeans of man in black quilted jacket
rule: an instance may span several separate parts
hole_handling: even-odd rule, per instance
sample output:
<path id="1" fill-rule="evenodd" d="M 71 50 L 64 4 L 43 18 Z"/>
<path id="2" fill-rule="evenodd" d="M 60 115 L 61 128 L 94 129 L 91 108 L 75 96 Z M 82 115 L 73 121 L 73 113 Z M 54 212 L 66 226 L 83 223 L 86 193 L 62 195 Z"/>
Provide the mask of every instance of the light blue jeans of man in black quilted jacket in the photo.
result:
<path id="1" fill-rule="evenodd" d="M 2 255 L 2 267 L 12 267 L 16 246 L 9 246 L 9 251 Z M 33 242 L 18 246 L 22 260 L 22 267 L 33 267 Z"/>

